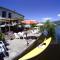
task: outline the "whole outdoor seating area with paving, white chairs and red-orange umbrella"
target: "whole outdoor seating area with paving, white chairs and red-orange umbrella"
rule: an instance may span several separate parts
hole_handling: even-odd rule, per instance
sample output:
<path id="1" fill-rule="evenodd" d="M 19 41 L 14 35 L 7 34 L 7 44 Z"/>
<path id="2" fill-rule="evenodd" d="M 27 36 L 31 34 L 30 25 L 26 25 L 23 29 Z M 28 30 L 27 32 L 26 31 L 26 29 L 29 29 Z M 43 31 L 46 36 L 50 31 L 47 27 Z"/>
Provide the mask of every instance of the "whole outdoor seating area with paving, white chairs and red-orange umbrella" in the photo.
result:
<path id="1" fill-rule="evenodd" d="M 42 34 L 38 29 L 39 27 L 33 27 L 37 23 L 36 21 L 29 20 L 22 21 L 22 24 L 10 26 L 9 23 L 8 26 L 0 27 L 7 43 L 5 47 L 7 48 L 8 57 L 4 57 L 4 60 L 16 57 L 37 40 Z"/>

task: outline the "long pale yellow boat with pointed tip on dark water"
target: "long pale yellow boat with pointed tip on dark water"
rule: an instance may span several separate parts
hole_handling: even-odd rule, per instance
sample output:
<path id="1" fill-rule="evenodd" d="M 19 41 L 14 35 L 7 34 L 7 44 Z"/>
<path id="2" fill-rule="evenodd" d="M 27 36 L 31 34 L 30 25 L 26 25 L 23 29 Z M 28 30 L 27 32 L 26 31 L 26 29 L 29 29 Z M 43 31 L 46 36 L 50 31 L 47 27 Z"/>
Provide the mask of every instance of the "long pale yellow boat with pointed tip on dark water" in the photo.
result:
<path id="1" fill-rule="evenodd" d="M 51 37 L 48 39 L 45 39 L 39 46 L 31 50 L 29 53 L 25 54 L 19 60 L 28 60 L 32 57 L 37 56 L 38 54 L 42 53 L 48 47 L 50 42 L 51 42 Z"/>

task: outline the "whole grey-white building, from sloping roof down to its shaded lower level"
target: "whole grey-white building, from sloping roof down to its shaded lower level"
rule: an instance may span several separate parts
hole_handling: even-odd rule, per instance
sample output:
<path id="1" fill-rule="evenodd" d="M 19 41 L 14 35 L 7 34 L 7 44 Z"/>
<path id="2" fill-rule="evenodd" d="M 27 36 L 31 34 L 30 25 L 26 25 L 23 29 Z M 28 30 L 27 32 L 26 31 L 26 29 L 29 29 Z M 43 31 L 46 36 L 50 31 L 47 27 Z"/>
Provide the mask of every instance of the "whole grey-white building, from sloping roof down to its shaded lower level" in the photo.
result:
<path id="1" fill-rule="evenodd" d="M 16 11 L 0 7 L 0 28 L 2 30 L 5 30 L 6 26 L 8 26 L 10 30 L 10 26 L 16 26 L 17 24 L 20 24 L 21 20 L 24 20 L 24 15 Z"/>

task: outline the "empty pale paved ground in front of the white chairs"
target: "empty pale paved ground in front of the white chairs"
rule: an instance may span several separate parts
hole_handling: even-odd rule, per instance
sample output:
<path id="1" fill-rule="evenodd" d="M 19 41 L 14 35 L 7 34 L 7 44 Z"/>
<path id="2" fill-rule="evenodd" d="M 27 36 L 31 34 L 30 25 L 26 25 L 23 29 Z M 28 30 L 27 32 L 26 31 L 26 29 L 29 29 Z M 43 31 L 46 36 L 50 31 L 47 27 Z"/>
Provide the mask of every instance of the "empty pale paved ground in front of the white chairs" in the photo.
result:
<path id="1" fill-rule="evenodd" d="M 29 46 L 34 42 L 35 40 L 28 40 Z M 25 49 L 27 49 L 29 46 L 27 46 L 27 42 L 24 39 L 14 39 L 14 40 L 8 40 L 7 41 L 10 45 L 7 46 L 9 57 L 5 57 L 4 60 L 12 60 L 14 57 L 22 53 Z"/>

